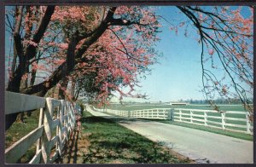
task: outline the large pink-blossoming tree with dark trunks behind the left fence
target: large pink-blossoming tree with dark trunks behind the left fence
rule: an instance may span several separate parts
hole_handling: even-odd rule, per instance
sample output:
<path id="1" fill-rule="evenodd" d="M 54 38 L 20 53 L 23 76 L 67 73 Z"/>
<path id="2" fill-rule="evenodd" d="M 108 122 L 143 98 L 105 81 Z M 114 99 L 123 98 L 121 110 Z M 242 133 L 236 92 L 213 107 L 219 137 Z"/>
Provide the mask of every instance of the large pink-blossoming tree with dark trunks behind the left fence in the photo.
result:
<path id="1" fill-rule="evenodd" d="M 154 62 L 152 46 L 160 24 L 149 11 L 140 7 L 16 7 L 15 25 L 9 27 L 15 31 L 13 66 L 17 67 L 11 69 L 7 90 L 43 96 L 55 85 L 66 89 L 68 81 L 95 72 L 94 85 L 100 88 L 96 98 L 101 103 L 111 89 L 131 95 L 137 74 Z M 35 72 L 46 72 L 47 77 L 35 83 Z M 27 78 L 30 86 L 23 86 Z M 121 85 L 131 90 L 125 93 Z M 7 128 L 14 120 L 15 115 L 7 115 Z"/>

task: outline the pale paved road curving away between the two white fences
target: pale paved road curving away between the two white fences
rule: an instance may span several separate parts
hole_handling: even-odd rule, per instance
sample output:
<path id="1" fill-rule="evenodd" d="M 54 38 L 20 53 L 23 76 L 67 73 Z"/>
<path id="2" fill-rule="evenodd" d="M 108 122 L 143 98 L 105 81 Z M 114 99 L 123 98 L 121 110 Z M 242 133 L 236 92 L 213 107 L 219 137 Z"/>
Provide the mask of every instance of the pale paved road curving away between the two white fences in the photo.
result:
<path id="1" fill-rule="evenodd" d="M 197 163 L 253 163 L 253 141 L 244 141 L 172 124 L 113 117 L 91 110 L 90 112 L 95 116 L 110 118 L 152 141 L 161 142 L 175 152 L 194 159 Z"/>

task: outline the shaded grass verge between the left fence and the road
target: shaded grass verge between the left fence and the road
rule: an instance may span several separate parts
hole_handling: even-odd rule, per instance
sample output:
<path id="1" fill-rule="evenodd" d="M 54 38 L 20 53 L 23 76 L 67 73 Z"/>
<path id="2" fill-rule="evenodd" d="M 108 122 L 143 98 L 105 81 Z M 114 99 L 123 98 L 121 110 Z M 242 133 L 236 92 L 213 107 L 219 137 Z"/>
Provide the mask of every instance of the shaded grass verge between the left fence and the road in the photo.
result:
<path id="1" fill-rule="evenodd" d="M 178 164 L 194 163 L 171 149 L 148 140 L 113 121 L 84 112 L 79 149 L 68 148 L 61 163 L 77 164 Z M 73 153 L 77 150 L 77 153 Z M 71 159 L 73 158 L 73 159 Z"/>

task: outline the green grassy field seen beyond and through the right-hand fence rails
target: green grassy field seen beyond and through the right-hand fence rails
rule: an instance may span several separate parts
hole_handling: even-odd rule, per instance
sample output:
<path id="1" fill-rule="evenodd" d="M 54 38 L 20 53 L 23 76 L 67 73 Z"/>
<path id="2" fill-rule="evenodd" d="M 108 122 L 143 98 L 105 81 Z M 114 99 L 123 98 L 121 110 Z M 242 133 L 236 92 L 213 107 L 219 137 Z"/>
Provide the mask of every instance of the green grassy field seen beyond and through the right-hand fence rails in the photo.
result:
<path id="1" fill-rule="evenodd" d="M 123 111 L 132 111 L 132 110 L 142 110 L 142 109 L 153 109 L 153 108 L 184 108 L 184 109 L 200 109 L 200 110 L 213 110 L 213 107 L 210 107 L 209 105 L 165 105 L 165 104 L 139 104 L 139 105 L 121 105 L 121 104 L 111 104 L 108 106 L 109 109 L 113 110 L 123 110 Z M 245 112 L 245 109 L 241 105 L 220 105 L 219 110 L 221 111 L 237 111 L 237 112 Z M 183 111 L 183 113 L 190 113 L 190 111 Z M 198 115 L 203 115 L 204 112 L 194 112 L 194 114 Z M 175 114 L 177 116 L 177 114 Z M 221 123 L 221 113 L 219 112 L 208 112 L 208 116 L 215 116 L 215 117 L 220 117 L 220 118 L 207 118 L 209 121 L 214 121 Z M 236 113 L 226 113 L 225 116 L 227 118 L 246 118 L 245 114 L 236 114 Z M 190 116 L 183 115 L 183 118 L 188 118 L 187 121 L 189 121 Z M 198 119 L 202 119 L 201 117 L 194 117 Z M 186 119 L 183 119 L 186 120 Z M 198 130 L 206 130 L 210 131 L 213 133 L 218 133 L 222 135 L 230 135 L 236 138 L 241 138 L 249 141 L 253 141 L 253 135 L 247 135 L 244 133 L 237 133 L 237 132 L 231 132 L 228 130 L 219 130 L 219 129 L 214 129 L 210 127 L 205 127 L 204 124 L 201 122 L 194 121 L 197 124 L 202 124 L 202 125 L 195 125 L 195 124 L 187 124 L 187 123 L 178 123 L 174 121 L 169 121 L 169 120 L 160 120 L 160 122 L 167 123 L 167 124 L 176 124 L 180 126 L 185 126 L 189 128 L 194 128 Z M 246 125 L 247 123 L 245 121 L 237 121 L 237 120 L 226 120 L 227 124 L 240 124 L 240 125 Z M 218 126 L 219 128 L 221 125 L 219 124 L 212 124 L 208 123 L 209 125 L 215 125 Z M 253 124 L 253 123 L 252 123 Z M 230 128 L 231 130 L 246 130 L 246 128 L 238 128 L 238 127 L 230 127 L 226 126 L 227 128 Z"/>

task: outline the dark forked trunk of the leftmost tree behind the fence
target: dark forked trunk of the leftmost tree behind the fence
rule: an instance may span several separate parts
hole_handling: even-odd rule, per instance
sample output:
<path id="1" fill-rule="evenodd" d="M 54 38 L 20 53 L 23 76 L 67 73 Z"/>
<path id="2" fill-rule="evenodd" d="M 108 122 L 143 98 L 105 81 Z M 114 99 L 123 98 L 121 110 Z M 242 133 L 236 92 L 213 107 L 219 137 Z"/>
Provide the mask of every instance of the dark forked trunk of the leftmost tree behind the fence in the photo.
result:
<path id="1" fill-rule="evenodd" d="M 55 6 L 49 6 L 47 7 L 44 17 L 42 20 L 40 20 L 38 24 L 38 29 L 34 36 L 32 37 L 32 41 L 34 43 L 39 43 L 42 37 L 44 36 L 44 32 L 49 25 L 49 20 L 51 18 L 51 15 L 55 11 Z M 22 39 L 20 37 L 20 25 L 22 21 L 22 12 L 23 7 L 20 6 L 16 10 L 16 17 L 15 17 L 15 32 L 14 32 L 14 41 L 15 41 L 15 49 L 17 52 L 17 55 L 19 56 L 19 65 L 15 72 L 13 73 L 12 78 L 9 78 L 8 87 L 6 90 L 12 91 L 12 92 L 20 92 L 20 82 L 22 76 L 26 72 L 26 62 L 31 60 L 36 55 L 36 48 L 33 45 L 28 45 L 26 48 L 26 53 L 24 54 L 24 49 L 22 45 Z M 42 95 L 43 96 L 43 95 Z M 9 127 L 15 122 L 17 115 L 19 113 L 14 114 L 8 114 L 5 116 L 5 130 L 8 130 Z"/>

